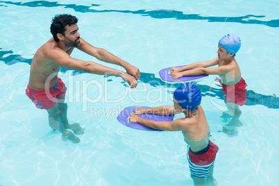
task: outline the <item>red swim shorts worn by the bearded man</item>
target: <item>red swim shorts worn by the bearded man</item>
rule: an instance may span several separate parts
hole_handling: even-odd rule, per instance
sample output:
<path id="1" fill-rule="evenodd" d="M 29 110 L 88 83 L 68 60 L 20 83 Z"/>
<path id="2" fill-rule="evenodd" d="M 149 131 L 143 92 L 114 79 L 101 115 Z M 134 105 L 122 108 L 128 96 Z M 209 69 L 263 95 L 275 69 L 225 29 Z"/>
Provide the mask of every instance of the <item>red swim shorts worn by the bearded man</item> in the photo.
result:
<path id="1" fill-rule="evenodd" d="M 45 90 L 32 90 L 27 85 L 26 95 L 35 103 L 36 108 L 48 110 L 56 105 L 58 98 L 65 96 L 66 90 L 65 84 L 58 78 L 58 83 L 55 86 Z"/>

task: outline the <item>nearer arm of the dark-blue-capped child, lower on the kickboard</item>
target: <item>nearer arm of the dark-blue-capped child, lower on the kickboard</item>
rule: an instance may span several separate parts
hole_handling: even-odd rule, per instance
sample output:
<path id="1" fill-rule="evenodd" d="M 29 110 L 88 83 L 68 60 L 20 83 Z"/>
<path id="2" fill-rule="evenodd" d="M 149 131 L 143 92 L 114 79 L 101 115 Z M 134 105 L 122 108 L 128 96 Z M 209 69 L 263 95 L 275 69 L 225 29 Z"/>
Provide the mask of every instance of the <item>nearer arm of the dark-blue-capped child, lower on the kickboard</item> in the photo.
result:
<path id="1" fill-rule="evenodd" d="M 176 119 L 174 121 L 153 121 L 150 119 L 144 119 L 137 115 L 131 115 L 129 119 L 130 123 L 139 123 L 149 128 L 158 130 L 178 131 L 183 130 L 183 125 L 187 124 L 183 119 Z"/>

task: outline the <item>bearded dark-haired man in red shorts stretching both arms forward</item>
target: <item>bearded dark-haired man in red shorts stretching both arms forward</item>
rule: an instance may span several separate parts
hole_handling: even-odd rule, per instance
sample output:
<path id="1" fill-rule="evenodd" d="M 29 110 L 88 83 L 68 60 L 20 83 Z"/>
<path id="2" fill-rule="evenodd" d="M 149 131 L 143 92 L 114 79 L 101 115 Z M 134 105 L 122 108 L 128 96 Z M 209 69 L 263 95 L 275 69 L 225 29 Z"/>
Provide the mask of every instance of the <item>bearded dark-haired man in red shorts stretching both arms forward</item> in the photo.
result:
<path id="1" fill-rule="evenodd" d="M 140 71 L 137 67 L 117 58 L 104 49 L 93 47 L 85 42 L 78 33 L 78 19 L 71 15 L 56 15 L 51 23 L 53 37 L 40 47 L 35 53 L 31 63 L 29 83 L 26 88 L 27 96 L 35 103 L 37 108 L 46 109 L 49 113 L 49 126 L 53 130 L 60 130 L 62 140 L 71 140 L 78 143 L 77 135 L 83 134 L 83 128 L 79 124 L 70 125 L 67 119 L 67 104 L 65 103 L 65 92 L 67 88 L 60 78 L 58 72 L 60 67 L 86 71 L 92 74 L 108 74 L 120 76 L 131 88 L 137 87 L 137 79 Z M 78 60 L 71 58 L 71 52 L 77 48 L 90 56 L 124 67 L 119 71 L 96 62 Z M 130 75 L 129 75 L 130 74 Z"/>

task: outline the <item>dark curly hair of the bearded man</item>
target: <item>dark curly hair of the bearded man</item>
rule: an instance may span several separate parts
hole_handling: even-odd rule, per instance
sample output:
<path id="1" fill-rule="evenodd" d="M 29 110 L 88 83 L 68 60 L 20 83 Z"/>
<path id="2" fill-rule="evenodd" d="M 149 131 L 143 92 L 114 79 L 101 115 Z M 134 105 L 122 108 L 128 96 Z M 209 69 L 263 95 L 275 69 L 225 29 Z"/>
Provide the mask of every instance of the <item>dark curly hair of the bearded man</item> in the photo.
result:
<path id="1" fill-rule="evenodd" d="M 53 39 L 56 42 L 59 42 L 59 39 L 57 37 L 58 33 L 61 33 L 62 35 L 65 34 L 65 26 L 72 24 L 76 24 L 78 22 L 78 18 L 69 15 L 69 14 L 62 14 L 62 15 L 56 15 L 52 18 L 51 22 L 51 34 L 53 35 Z"/>

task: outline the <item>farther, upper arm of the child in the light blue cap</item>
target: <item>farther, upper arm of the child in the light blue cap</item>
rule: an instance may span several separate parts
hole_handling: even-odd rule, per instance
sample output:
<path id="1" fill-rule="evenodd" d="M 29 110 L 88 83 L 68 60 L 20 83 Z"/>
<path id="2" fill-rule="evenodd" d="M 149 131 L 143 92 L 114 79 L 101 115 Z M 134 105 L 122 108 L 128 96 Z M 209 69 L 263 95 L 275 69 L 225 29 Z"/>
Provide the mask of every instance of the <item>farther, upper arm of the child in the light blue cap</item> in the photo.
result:
<path id="1" fill-rule="evenodd" d="M 218 58 L 214 58 L 213 60 L 207 60 L 207 61 L 199 61 L 199 62 L 194 62 L 190 65 L 186 65 L 184 67 L 172 67 L 169 71 L 172 73 L 174 72 L 179 72 L 179 71 L 185 71 L 189 69 L 196 69 L 200 67 L 211 67 L 214 65 L 218 65 Z"/>

